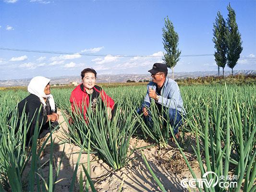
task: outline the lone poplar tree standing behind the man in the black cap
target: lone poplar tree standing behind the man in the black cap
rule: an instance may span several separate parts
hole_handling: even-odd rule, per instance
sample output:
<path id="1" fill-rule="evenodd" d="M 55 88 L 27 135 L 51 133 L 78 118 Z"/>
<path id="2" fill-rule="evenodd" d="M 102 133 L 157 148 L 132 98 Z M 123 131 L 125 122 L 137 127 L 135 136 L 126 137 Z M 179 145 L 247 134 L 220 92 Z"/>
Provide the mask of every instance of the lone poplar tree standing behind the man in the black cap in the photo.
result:
<path id="1" fill-rule="evenodd" d="M 162 28 L 163 31 L 163 45 L 166 53 L 164 53 L 163 61 L 167 67 L 171 68 L 172 79 L 174 79 L 173 68 L 180 60 L 181 51 L 178 48 L 179 36 L 174 31 L 172 22 L 167 18 L 164 18 L 165 26 Z"/>

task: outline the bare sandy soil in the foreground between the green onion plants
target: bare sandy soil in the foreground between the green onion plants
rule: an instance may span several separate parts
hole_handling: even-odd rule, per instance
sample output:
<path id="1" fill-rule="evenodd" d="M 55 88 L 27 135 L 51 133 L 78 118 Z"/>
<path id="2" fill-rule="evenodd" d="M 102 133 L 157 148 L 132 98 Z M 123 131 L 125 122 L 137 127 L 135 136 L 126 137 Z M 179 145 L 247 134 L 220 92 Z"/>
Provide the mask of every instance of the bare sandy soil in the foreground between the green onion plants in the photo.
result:
<path id="1" fill-rule="evenodd" d="M 62 180 L 56 184 L 55 191 L 66 192 L 69 191 L 69 186 L 73 178 L 73 170 L 77 162 L 80 148 L 73 144 L 63 144 L 63 141 L 66 139 L 63 134 L 63 130 L 68 131 L 68 129 L 60 111 L 58 111 L 58 113 L 60 114 L 59 123 L 61 123 L 61 128 L 52 134 L 52 138 L 54 140 L 53 156 L 56 168 L 60 162 L 64 146 L 65 148 L 64 155 L 62 157 L 60 175 L 58 177 L 58 180 Z M 46 137 L 48 135 L 49 133 L 46 135 Z M 42 141 L 44 140 L 44 138 L 42 139 Z M 48 141 L 48 144 L 46 145 L 46 148 L 41 156 L 42 162 L 45 162 L 49 159 L 49 143 L 50 142 Z M 136 147 L 150 145 L 149 143 L 146 143 L 144 140 L 132 138 L 130 142 L 130 147 L 133 148 L 135 144 Z M 150 147 L 144 149 L 143 151 L 154 173 L 157 175 L 158 179 L 161 181 L 161 183 L 168 192 L 187 191 L 181 186 L 180 181 L 184 178 L 192 178 L 192 176 L 188 168 L 186 167 L 184 160 L 180 155 L 177 147 L 174 144 L 171 144 L 171 146 L 168 146 L 164 150 L 159 150 L 158 147 Z M 191 158 L 189 154 L 187 154 L 187 156 Z M 121 186 L 122 180 L 122 192 L 160 191 L 155 180 L 147 170 L 140 152 L 135 151 L 133 157 L 135 158 L 131 160 L 126 167 L 118 171 L 113 171 L 106 163 L 104 163 L 102 160 L 99 160 L 97 156 L 91 154 L 91 178 L 95 184 L 97 191 L 117 192 Z M 82 163 L 87 168 L 87 154 L 82 154 L 80 164 Z M 196 163 L 194 164 L 194 169 L 196 174 L 199 176 L 199 169 Z M 42 171 L 45 176 L 48 175 L 49 163 L 46 163 L 43 166 Z M 76 186 L 74 189 L 75 191 L 78 191 L 78 178 L 80 176 L 81 171 L 83 173 L 84 181 L 86 180 L 83 168 L 81 165 L 79 165 L 77 171 Z"/>

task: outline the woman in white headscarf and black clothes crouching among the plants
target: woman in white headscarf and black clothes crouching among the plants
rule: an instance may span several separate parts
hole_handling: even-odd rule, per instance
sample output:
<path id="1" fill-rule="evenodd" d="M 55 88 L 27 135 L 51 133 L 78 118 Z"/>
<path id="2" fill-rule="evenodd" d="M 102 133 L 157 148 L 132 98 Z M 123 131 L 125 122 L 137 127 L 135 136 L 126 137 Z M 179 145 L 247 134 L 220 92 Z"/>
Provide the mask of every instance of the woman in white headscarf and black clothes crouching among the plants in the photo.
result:
<path id="1" fill-rule="evenodd" d="M 23 110 L 28 116 L 28 123 L 31 122 L 27 132 L 27 144 L 32 138 L 38 116 L 38 125 L 41 126 L 41 132 L 49 128 L 49 122 L 58 125 L 59 115 L 54 103 L 53 96 L 50 94 L 50 79 L 37 76 L 31 79 L 27 86 L 30 93 L 18 104 L 19 116 L 21 117 Z M 39 114 L 38 114 L 39 113 Z"/>

